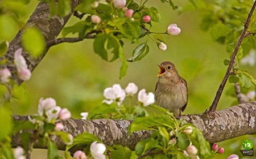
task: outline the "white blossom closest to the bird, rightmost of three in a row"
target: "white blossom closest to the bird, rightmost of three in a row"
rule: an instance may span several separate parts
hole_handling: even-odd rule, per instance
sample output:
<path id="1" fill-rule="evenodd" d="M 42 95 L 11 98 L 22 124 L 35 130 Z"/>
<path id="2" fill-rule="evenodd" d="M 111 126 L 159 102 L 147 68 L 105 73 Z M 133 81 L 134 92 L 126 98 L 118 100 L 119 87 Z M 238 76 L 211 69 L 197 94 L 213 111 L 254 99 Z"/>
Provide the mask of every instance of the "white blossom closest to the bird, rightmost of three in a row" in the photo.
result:
<path id="1" fill-rule="evenodd" d="M 150 104 L 154 104 L 155 96 L 152 92 L 146 93 L 145 89 L 142 89 L 138 93 L 138 101 L 143 104 L 143 106 L 148 106 Z"/>

